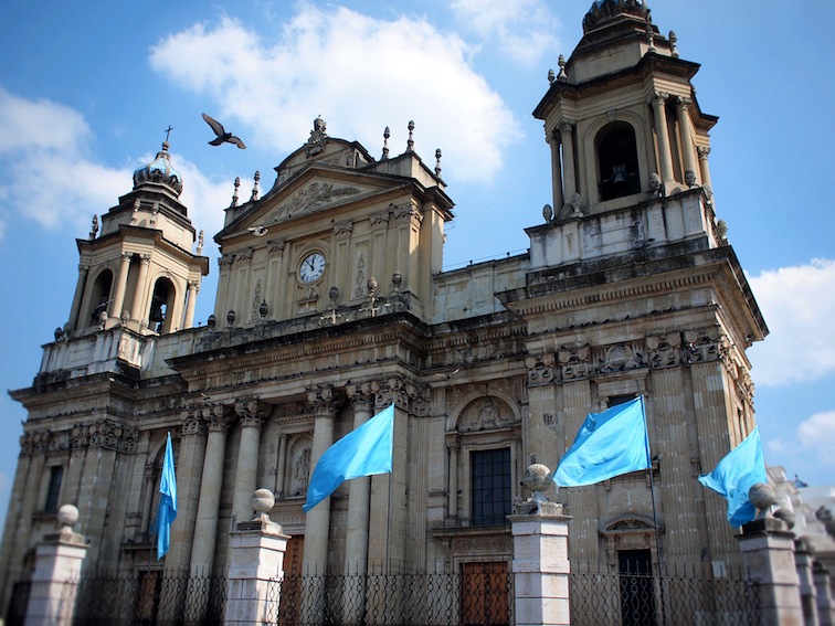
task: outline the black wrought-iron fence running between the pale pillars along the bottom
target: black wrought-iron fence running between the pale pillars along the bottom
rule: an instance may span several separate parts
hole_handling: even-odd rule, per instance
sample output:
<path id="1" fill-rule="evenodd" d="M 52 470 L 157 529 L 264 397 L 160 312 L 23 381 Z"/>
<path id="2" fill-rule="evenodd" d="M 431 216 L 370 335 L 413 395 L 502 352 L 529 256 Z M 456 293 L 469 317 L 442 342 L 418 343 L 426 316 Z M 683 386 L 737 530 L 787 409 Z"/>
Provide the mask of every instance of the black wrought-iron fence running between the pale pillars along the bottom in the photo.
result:
<path id="1" fill-rule="evenodd" d="M 281 626 L 510 626 L 507 567 L 434 573 L 286 574 L 269 581 L 264 624 Z M 495 563 L 493 565 L 496 565 Z M 22 624 L 29 583 L 15 585 L 9 624 Z M 744 573 L 572 572 L 575 626 L 759 624 L 759 586 Z M 86 573 L 64 585 L 62 624 L 203 625 L 223 622 L 226 580 L 162 572 Z M 72 608 L 74 606 L 74 608 Z"/>

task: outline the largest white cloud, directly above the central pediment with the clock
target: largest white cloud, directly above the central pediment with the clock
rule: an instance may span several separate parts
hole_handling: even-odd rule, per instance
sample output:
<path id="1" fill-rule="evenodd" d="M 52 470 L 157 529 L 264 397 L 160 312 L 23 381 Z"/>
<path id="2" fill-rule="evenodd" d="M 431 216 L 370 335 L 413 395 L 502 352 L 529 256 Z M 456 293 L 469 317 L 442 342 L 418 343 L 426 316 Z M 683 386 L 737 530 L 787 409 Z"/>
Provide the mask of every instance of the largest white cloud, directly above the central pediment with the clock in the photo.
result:
<path id="1" fill-rule="evenodd" d="M 441 148 L 444 171 L 456 180 L 489 182 L 503 150 L 522 134 L 471 67 L 472 54 L 461 38 L 423 19 L 385 21 L 302 4 L 275 42 L 222 18 L 215 28 L 170 35 L 150 62 L 179 86 L 216 99 L 221 109 L 207 113 L 239 135 L 246 130 L 250 147 L 293 150 L 321 115 L 328 134 L 356 137 L 378 153 L 390 126 L 397 155 L 414 120 L 415 150 L 430 167 Z"/>

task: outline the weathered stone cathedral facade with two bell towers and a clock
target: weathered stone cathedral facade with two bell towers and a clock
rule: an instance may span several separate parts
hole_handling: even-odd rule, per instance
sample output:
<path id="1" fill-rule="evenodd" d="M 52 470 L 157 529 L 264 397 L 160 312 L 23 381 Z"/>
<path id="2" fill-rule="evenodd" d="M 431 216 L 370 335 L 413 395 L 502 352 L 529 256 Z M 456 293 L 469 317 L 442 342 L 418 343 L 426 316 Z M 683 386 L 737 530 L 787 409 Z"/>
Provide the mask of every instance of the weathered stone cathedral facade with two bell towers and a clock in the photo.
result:
<path id="1" fill-rule="evenodd" d="M 276 496 L 288 569 L 509 571 L 526 468 L 553 468 L 588 413 L 637 394 L 652 468 L 548 494 L 573 518 L 572 563 L 739 564 L 725 500 L 696 478 L 754 426 L 746 350 L 768 328 L 717 217 L 698 67 L 645 3 L 594 2 L 533 110 L 553 197 L 520 224 L 528 252 L 451 272 L 440 167 L 315 120 L 272 188 L 225 210 L 200 327 L 209 259 L 163 145 L 78 240 L 70 320 L 12 392 L 28 420 L 0 588 L 31 572 L 64 503 L 85 566 L 222 575 L 257 488 Z M 304 513 L 320 455 L 390 404 L 392 473 Z M 168 433 L 178 517 L 158 562 Z"/>

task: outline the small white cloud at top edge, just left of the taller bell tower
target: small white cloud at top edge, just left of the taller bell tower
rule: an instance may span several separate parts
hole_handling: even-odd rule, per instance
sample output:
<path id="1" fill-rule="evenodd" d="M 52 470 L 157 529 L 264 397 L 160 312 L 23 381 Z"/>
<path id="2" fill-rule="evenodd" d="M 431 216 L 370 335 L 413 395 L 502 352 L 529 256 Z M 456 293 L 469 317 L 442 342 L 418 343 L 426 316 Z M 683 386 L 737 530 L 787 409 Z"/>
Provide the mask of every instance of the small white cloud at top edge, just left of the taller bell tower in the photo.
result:
<path id="1" fill-rule="evenodd" d="M 531 65 L 556 47 L 551 33 L 559 21 L 542 0 L 456 0 L 452 9 L 462 25 L 487 42 L 496 41 L 499 50 L 517 63 Z"/>

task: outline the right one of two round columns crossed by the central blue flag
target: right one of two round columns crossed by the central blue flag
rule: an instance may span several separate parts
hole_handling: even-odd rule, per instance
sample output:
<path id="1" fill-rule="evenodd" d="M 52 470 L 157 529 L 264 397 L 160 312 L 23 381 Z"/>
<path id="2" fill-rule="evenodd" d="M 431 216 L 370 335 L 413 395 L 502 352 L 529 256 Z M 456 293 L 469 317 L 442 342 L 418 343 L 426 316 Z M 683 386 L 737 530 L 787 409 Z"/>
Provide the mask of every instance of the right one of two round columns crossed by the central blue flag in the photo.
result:
<path id="1" fill-rule="evenodd" d="M 348 385 L 353 403 L 353 429 L 371 417 L 373 396 L 370 385 Z M 345 573 L 364 574 L 368 565 L 368 519 L 371 501 L 371 477 L 355 478 L 348 484 L 348 528 L 345 538 Z"/>

